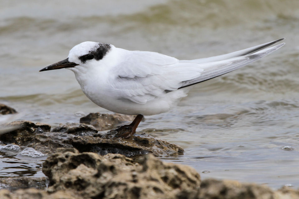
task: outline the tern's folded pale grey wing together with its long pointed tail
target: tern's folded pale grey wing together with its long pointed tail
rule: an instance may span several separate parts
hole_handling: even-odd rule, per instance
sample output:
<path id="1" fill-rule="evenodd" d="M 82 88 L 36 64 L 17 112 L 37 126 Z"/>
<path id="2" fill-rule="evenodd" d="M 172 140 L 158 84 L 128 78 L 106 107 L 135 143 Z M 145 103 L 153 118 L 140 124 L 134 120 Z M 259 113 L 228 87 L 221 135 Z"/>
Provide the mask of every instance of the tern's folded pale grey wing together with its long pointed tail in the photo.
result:
<path id="1" fill-rule="evenodd" d="M 118 76 L 112 81 L 113 93 L 119 99 L 145 104 L 157 97 L 236 70 L 274 52 L 284 43 L 269 47 L 282 39 L 252 48 L 211 58 L 181 60 L 167 55 L 128 51 L 112 70 Z M 267 48 L 269 47 L 269 48 Z"/>

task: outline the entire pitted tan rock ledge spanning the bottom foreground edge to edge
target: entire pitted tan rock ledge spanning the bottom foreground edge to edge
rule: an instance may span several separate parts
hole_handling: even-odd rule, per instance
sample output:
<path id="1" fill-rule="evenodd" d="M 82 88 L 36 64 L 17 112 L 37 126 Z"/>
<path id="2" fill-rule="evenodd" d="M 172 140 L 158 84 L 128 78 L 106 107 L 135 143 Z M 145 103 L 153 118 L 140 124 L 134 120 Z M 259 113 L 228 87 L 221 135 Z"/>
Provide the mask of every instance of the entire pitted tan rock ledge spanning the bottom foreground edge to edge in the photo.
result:
<path id="1" fill-rule="evenodd" d="M 165 163 L 144 155 L 134 160 L 120 154 L 79 153 L 58 149 L 44 162 L 49 178 L 45 190 L 0 190 L 2 199 L 41 198 L 192 198 L 192 199 L 297 199 L 299 190 L 273 191 L 264 185 L 206 179 L 191 167 Z"/>

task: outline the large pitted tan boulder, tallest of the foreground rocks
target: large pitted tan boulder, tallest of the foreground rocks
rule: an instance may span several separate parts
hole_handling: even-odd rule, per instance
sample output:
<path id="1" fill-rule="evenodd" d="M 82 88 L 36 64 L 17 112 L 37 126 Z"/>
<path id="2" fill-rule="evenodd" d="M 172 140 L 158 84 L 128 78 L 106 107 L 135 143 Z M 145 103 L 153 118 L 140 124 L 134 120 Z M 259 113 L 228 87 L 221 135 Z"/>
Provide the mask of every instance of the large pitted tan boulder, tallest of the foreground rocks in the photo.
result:
<path id="1" fill-rule="evenodd" d="M 69 190 L 91 198 L 190 198 L 200 175 L 189 166 L 164 163 L 153 155 L 137 161 L 119 154 L 60 150 L 45 161 L 49 192 Z"/>

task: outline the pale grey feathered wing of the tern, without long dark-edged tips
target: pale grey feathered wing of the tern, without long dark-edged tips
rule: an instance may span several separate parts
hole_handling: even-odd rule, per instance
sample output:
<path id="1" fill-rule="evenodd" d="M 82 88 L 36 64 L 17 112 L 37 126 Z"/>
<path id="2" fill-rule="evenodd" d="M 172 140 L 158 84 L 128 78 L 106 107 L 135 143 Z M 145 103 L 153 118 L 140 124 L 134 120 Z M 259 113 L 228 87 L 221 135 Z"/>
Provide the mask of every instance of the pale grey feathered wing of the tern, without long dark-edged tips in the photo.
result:
<path id="1" fill-rule="evenodd" d="M 126 60 L 113 70 L 118 76 L 113 80 L 113 93 L 119 99 L 129 99 L 138 104 L 163 97 L 165 90 L 177 90 L 184 81 L 200 76 L 203 69 L 196 63 L 180 63 L 167 55 L 129 51 Z"/>

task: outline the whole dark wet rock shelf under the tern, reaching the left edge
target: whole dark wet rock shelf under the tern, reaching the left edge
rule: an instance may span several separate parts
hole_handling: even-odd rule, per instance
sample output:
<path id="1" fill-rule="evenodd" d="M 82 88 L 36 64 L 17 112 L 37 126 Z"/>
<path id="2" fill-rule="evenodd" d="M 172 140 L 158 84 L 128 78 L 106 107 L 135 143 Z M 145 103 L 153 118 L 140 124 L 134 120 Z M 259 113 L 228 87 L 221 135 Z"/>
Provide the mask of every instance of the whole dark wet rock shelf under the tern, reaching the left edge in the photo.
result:
<path id="1" fill-rule="evenodd" d="M 80 152 L 123 154 L 136 157 L 152 153 L 156 156 L 183 155 L 183 149 L 167 141 L 159 140 L 147 134 L 135 134 L 130 138 L 110 137 L 98 133 L 92 125 L 67 123 L 60 124 L 50 132 L 50 125 L 17 121 L 8 126 L 19 126 L 16 130 L 0 135 L 4 144 L 15 143 L 22 147 L 31 147 L 50 155 L 59 147 L 77 148 Z M 23 148 L 22 148 L 23 149 Z"/>

